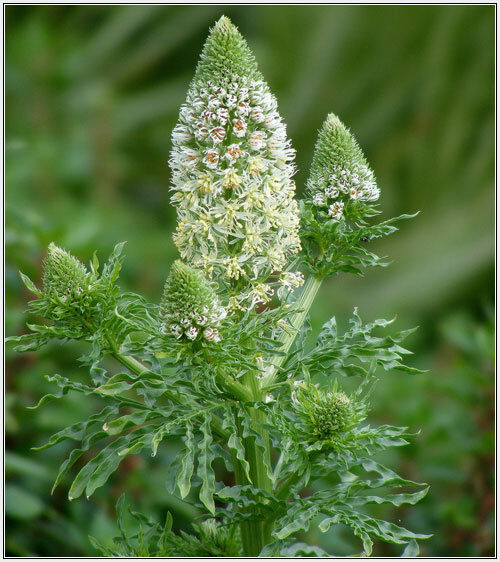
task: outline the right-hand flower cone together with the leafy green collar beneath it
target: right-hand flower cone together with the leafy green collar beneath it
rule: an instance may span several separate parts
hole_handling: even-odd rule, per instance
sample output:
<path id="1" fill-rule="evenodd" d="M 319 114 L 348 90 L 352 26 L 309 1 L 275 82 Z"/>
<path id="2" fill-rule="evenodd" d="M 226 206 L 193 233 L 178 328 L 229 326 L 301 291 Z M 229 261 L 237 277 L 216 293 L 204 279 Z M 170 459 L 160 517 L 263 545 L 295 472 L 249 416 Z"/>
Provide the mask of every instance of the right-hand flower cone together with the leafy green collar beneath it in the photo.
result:
<path id="1" fill-rule="evenodd" d="M 377 182 L 354 135 L 333 113 L 323 123 L 300 201 L 301 241 L 306 267 L 320 278 L 340 271 L 362 273 L 384 265 L 366 242 L 390 234 L 398 219 L 370 226 L 379 214 Z M 405 218 L 405 216 L 401 217 Z"/>

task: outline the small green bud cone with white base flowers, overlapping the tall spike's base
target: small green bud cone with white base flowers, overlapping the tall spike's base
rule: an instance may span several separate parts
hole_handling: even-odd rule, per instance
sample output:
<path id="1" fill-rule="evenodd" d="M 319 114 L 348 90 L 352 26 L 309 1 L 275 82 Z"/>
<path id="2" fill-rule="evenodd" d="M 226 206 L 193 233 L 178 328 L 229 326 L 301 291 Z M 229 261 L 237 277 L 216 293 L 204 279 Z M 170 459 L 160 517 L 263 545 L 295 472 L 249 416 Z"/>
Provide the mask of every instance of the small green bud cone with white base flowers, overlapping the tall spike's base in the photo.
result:
<path id="1" fill-rule="evenodd" d="M 226 316 L 211 284 L 196 269 L 177 260 L 160 303 L 160 330 L 176 339 L 219 341 L 217 326 Z"/>

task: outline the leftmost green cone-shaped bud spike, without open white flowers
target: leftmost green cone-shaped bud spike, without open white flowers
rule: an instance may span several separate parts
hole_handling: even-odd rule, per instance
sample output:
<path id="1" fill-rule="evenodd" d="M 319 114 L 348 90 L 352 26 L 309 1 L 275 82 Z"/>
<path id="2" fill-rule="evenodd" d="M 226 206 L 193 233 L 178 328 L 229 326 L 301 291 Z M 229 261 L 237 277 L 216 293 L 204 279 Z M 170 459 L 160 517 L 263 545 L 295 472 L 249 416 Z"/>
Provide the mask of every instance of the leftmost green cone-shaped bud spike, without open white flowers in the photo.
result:
<path id="1" fill-rule="evenodd" d="M 45 295 L 68 302 L 80 300 L 88 284 L 89 273 L 83 263 L 51 242 L 44 263 Z"/>

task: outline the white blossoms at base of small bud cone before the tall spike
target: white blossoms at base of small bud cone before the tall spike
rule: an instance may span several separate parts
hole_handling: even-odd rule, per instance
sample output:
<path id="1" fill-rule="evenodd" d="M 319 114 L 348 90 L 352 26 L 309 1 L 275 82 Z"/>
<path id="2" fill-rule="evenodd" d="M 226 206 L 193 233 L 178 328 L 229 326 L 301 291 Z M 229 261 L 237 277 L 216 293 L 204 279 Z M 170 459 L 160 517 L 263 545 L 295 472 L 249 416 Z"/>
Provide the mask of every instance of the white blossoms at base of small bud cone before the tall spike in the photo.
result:
<path id="1" fill-rule="evenodd" d="M 220 341 L 217 326 L 226 317 L 226 309 L 219 306 L 214 299 L 210 305 L 204 305 L 199 310 L 193 307 L 191 310 L 171 310 L 163 316 L 160 332 L 165 335 L 181 339 L 185 336 L 188 340 L 195 340 L 198 335 L 203 335 L 207 341 Z"/>

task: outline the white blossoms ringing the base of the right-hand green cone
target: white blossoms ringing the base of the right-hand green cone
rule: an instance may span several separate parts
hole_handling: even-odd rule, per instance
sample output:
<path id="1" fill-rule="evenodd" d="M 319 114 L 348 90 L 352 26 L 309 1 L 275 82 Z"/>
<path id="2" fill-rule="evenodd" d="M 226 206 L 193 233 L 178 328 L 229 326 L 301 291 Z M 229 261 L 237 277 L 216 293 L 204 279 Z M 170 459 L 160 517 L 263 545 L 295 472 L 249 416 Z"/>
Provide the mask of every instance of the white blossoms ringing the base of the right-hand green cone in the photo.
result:
<path id="1" fill-rule="evenodd" d="M 348 201 L 376 201 L 380 196 L 374 174 L 364 164 L 352 170 L 336 165 L 332 173 L 318 183 L 322 189 L 314 193 L 313 205 L 328 207 L 328 215 L 338 221 L 343 219 L 344 205 Z"/>

